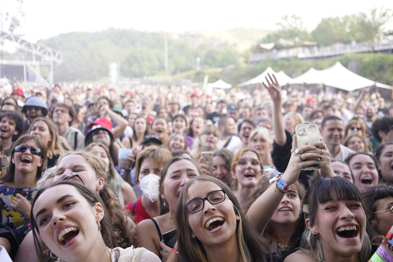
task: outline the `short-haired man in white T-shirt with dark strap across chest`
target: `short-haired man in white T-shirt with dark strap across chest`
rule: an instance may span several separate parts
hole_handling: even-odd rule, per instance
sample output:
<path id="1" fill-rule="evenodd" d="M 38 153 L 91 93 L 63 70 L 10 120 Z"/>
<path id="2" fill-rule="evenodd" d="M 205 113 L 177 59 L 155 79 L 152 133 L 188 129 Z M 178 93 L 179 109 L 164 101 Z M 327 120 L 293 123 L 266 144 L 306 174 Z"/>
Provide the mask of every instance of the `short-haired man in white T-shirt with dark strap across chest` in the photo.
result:
<path id="1" fill-rule="evenodd" d="M 219 119 L 220 137 L 217 142 L 217 148 L 226 148 L 233 152 L 235 148 L 241 145 L 241 139 L 236 136 L 235 120 L 229 116 L 222 116 Z"/>

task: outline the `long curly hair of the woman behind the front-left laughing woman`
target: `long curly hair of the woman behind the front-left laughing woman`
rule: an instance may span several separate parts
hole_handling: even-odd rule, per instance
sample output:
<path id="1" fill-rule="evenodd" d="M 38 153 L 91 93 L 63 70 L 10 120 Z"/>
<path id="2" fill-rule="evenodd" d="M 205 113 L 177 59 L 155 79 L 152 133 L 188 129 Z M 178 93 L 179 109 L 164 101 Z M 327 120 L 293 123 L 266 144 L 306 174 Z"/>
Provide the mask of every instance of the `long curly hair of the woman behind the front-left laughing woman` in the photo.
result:
<path id="1" fill-rule="evenodd" d="M 63 158 L 70 155 L 82 156 L 84 161 L 92 167 L 95 171 L 95 175 L 98 178 L 104 179 L 104 186 L 99 191 L 99 196 L 103 199 L 103 204 L 107 208 L 108 215 L 112 220 L 115 230 L 113 231 L 114 244 L 117 247 L 127 248 L 132 244 L 135 244 L 134 236 L 129 231 L 129 225 L 127 218 L 129 213 L 120 205 L 119 199 L 116 197 L 112 189 L 108 186 L 108 176 L 105 172 L 104 164 L 94 154 L 82 150 L 78 151 L 67 151 L 60 156 L 57 160 L 57 165 Z M 56 167 L 57 168 L 57 167 Z"/>

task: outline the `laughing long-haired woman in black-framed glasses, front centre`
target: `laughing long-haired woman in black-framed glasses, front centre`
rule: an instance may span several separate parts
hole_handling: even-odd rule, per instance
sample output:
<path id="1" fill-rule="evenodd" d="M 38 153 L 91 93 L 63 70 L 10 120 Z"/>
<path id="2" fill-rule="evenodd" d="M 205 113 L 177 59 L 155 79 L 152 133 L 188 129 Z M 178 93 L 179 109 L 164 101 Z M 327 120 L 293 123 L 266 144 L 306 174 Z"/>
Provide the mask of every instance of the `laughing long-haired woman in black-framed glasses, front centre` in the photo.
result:
<path id="1" fill-rule="evenodd" d="M 198 176 L 184 185 L 176 222 L 182 261 L 279 261 L 266 255 L 265 240 L 248 223 L 235 194 L 217 178 Z"/>

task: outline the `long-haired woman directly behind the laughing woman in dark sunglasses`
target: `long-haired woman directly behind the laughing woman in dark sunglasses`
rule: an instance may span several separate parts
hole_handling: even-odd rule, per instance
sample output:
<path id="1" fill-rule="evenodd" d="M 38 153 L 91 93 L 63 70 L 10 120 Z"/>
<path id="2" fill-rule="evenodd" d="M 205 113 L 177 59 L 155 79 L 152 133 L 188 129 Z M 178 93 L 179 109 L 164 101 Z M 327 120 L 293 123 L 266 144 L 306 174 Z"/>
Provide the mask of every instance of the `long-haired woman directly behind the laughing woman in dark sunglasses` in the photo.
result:
<path id="1" fill-rule="evenodd" d="M 54 167 L 57 159 L 59 159 L 60 154 L 64 152 L 64 150 L 61 145 L 59 133 L 53 121 L 46 117 L 37 117 L 31 123 L 28 133 L 42 139 L 47 149 L 47 168 Z"/>

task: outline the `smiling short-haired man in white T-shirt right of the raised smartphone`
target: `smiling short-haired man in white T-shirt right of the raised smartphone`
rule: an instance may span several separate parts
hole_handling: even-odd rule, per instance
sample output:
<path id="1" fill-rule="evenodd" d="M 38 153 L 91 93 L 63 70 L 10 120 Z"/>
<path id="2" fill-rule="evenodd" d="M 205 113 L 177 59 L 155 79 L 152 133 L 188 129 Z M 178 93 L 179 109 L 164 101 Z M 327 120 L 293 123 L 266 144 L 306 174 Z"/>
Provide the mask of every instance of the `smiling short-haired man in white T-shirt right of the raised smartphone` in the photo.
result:
<path id="1" fill-rule="evenodd" d="M 335 115 L 327 116 L 321 123 L 321 138 L 329 149 L 332 160 L 344 161 L 355 151 L 342 145 L 344 122 Z M 322 152 L 322 151 L 321 151 Z"/>

